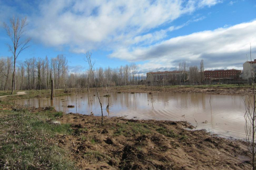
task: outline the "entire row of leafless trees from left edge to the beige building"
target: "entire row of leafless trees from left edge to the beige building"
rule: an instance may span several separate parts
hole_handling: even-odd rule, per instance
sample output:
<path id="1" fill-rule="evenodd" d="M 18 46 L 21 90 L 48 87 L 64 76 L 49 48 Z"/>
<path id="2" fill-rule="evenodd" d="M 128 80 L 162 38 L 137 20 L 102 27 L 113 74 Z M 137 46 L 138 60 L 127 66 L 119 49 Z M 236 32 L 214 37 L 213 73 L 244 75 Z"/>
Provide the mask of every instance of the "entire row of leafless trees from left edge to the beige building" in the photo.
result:
<path id="1" fill-rule="evenodd" d="M 12 73 L 14 64 L 12 57 L 0 59 L 0 89 L 2 91 L 12 89 Z M 64 55 L 58 55 L 52 59 L 30 58 L 20 62 L 15 68 L 15 89 L 50 89 L 51 79 L 54 81 L 55 89 L 77 88 L 77 87 L 110 87 L 143 84 L 144 77 L 138 74 L 135 63 L 117 68 L 89 69 L 83 73 L 70 73 L 67 59 Z"/>

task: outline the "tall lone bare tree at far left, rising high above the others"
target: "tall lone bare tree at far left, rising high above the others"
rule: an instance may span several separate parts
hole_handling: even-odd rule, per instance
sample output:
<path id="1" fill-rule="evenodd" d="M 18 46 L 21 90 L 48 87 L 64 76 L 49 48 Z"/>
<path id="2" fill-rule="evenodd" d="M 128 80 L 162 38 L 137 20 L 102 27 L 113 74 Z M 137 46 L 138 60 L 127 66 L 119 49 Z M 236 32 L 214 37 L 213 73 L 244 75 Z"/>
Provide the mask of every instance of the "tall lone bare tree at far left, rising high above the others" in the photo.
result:
<path id="1" fill-rule="evenodd" d="M 29 47 L 28 42 L 30 41 L 30 38 L 23 39 L 23 36 L 25 36 L 25 26 L 27 26 L 27 18 L 22 18 L 20 20 L 19 17 L 12 17 L 10 19 L 10 24 L 11 26 L 4 23 L 4 29 L 12 41 L 12 44 L 7 44 L 7 46 L 9 47 L 9 51 L 12 52 L 14 57 L 14 71 L 12 74 L 12 94 L 14 94 L 16 60 L 17 57 L 19 57 L 20 52 Z"/>

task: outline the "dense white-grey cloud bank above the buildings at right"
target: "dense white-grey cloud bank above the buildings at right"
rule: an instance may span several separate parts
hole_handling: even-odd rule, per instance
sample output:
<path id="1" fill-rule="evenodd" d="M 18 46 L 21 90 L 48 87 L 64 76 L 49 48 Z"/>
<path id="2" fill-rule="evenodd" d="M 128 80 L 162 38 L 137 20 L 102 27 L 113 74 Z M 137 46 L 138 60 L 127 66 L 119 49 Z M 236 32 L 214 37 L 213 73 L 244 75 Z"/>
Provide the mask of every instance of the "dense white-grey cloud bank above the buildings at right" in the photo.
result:
<path id="1" fill-rule="evenodd" d="M 199 65 L 205 60 L 205 68 L 241 68 L 252 44 L 253 58 L 256 52 L 256 20 L 249 23 L 218 28 L 179 36 L 148 47 L 135 47 L 131 51 L 120 49 L 109 55 L 130 61 L 145 61 L 143 69 L 174 68 L 179 62 Z"/>

